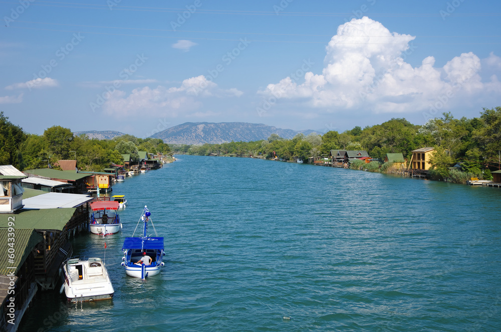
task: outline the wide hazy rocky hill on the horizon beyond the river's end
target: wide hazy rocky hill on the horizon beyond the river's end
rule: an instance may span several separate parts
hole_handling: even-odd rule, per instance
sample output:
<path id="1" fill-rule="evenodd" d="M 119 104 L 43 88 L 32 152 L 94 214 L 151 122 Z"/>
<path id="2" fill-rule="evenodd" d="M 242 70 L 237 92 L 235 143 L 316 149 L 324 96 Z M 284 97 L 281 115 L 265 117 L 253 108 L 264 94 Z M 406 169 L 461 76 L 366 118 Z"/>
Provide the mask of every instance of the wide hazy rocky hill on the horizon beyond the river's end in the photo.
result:
<path id="1" fill-rule="evenodd" d="M 171 144 L 218 144 L 230 141 L 256 141 L 267 139 L 271 134 L 291 139 L 298 133 L 308 135 L 315 130 L 296 131 L 247 122 L 186 122 L 167 128 L 150 136 Z"/>

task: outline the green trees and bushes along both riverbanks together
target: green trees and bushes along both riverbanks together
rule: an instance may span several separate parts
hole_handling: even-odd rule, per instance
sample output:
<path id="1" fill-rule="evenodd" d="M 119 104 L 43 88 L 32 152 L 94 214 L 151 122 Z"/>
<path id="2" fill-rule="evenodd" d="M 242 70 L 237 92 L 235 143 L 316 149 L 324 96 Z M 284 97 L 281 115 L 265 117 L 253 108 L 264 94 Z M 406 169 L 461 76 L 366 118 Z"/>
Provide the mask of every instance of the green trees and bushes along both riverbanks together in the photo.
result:
<path id="1" fill-rule="evenodd" d="M 122 154 L 138 159 L 138 151 L 213 156 L 255 157 L 283 161 L 318 163 L 330 160 L 332 150 L 367 151 L 364 160 L 352 159 L 346 167 L 355 170 L 403 174 L 409 169 L 412 151 L 433 147 L 426 178 L 465 184 L 471 178 L 492 180 L 491 171 L 501 163 L 501 107 L 484 108 L 479 117 L 456 119 L 443 113 L 423 125 L 405 118 L 392 118 L 381 124 L 339 133 L 311 133 L 284 139 L 272 134 L 258 141 L 231 141 L 220 144 L 166 144 L 158 138 L 138 138 L 125 134 L 113 139 L 75 136 L 69 128 L 53 126 L 43 135 L 29 134 L 8 121 L 0 112 L 0 164 L 12 164 L 19 170 L 48 166 L 57 169 L 57 161 L 76 159 L 83 171 L 101 171 L 110 163 L 124 162 Z M 383 162 L 387 153 L 402 153 L 405 163 Z"/>

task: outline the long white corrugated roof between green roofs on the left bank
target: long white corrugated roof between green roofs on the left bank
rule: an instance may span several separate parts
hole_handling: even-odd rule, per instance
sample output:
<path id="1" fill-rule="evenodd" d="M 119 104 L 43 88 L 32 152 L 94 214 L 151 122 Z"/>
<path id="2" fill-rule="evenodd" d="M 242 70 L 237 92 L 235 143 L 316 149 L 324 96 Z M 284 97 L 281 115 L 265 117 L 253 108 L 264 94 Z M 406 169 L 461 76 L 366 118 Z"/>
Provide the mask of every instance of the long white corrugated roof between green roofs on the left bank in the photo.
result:
<path id="1" fill-rule="evenodd" d="M 94 198 L 80 194 L 47 193 L 23 200 L 25 209 L 76 208 Z"/>

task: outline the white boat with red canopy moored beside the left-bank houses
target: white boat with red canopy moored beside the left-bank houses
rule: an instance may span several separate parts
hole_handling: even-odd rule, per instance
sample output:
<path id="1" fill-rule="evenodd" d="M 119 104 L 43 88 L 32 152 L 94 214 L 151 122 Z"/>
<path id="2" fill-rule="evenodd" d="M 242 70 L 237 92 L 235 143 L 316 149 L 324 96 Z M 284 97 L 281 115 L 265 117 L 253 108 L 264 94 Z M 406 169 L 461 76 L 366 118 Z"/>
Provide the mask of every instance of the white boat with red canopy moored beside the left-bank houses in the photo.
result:
<path id="1" fill-rule="evenodd" d="M 117 201 L 97 201 L 90 203 L 92 216 L 89 229 L 93 234 L 108 235 L 116 233 L 122 227 L 117 210 Z"/>

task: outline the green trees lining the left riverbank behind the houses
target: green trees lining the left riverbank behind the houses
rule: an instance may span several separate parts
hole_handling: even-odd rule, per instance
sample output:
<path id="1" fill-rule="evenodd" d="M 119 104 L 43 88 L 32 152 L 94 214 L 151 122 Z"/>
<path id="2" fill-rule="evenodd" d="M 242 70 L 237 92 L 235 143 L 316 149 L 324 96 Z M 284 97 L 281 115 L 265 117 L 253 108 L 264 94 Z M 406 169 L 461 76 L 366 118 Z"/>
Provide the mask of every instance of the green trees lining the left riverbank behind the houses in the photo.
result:
<path id="1" fill-rule="evenodd" d="M 0 165 L 12 164 L 18 170 L 51 167 L 58 169 L 58 160 L 77 160 L 83 171 L 102 171 L 111 163 L 123 164 L 122 154 L 139 159 L 138 151 L 169 153 L 170 147 L 161 139 L 138 138 L 132 135 L 113 139 L 75 136 L 69 128 L 58 125 L 47 128 L 42 135 L 27 133 L 0 112 Z"/>

